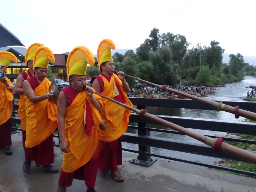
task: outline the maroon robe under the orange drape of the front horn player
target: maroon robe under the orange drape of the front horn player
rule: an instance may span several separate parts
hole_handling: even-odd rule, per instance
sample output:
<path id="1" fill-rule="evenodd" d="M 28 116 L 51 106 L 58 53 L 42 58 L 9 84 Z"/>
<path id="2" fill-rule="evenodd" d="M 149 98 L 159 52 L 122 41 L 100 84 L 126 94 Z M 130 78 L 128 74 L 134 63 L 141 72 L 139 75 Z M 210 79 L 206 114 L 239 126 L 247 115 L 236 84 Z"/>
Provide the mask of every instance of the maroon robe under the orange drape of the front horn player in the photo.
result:
<path id="1" fill-rule="evenodd" d="M 79 94 L 79 92 L 74 90 L 71 86 L 68 86 L 62 89 L 61 91 L 63 91 L 66 96 L 67 107 L 71 105 L 73 100 L 75 100 L 76 96 Z M 92 111 L 91 111 L 89 102 L 86 100 L 85 132 L 89 136 L 91 135 L 91 133 L 88 130 L 92 129 L 92 124 L 93 124 Z M 92 157 L 90 158 L 90 160 L 86 164 L 76 169 L 75 171 L 64 172 L 61 169 L 59 184 L 66 187 L 70 187 L 72 185 L 73 179 L 77 179 L 77 180 L 84 180 L 88 188 L 93 188 L 95 185 L 96 177 L 97 177 L 98 167 L 99 167 L 99 153 L 95 151 Z"/>

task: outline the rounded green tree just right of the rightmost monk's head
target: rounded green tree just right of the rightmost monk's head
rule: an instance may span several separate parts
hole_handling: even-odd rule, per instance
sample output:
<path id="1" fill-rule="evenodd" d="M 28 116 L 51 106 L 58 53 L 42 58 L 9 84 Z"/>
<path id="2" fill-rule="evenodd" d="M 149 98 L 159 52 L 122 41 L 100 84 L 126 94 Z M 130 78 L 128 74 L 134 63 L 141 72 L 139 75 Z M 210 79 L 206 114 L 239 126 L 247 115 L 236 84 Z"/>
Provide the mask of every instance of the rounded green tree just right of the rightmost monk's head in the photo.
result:
<path id="1" fill-rule="evenodd" d="M 131 76 L 137 76 L 137 63 L 135 60 L 132 58 L 125 58 L 121 63 L 120 63 L 120 71 L 123 71 L 127 75 Z M 130 87 L 135 87 L 136 86 L 136 81 L 132 78 L 125 78 L 126 82 L 129 84 Z"/>

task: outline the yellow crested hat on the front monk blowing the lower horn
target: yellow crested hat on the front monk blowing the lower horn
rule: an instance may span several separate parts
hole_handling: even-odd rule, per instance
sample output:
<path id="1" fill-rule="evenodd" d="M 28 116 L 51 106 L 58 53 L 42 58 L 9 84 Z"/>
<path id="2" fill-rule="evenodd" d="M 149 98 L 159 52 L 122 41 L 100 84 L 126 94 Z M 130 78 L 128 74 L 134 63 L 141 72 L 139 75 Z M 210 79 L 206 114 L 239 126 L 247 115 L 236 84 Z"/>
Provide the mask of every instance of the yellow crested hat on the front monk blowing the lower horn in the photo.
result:
<path id="1" fill-rule="evenodd" d="M 87 63 L 91 66 L 94 64 L 94 56 L 92 52 L 84 46 L 75 47 L 68 54 L 68 79 L 71 75 L 86 75 Z"/>

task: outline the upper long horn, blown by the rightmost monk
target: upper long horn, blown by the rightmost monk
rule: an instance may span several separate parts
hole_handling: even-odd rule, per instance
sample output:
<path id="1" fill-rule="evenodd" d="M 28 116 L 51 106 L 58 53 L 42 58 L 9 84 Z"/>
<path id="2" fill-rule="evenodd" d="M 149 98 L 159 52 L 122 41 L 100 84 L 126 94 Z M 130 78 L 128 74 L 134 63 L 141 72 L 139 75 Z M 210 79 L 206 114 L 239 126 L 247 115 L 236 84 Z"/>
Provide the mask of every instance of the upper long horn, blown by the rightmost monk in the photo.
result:
<path id="1" fill-rule="evenodd" d="M 116 70 L 115 70 L 115 73 L 118 73 L 118 72 L 116 72 Z M 151 83 L 151 82 L 148 82 L 148 81 L 145 81 L 145 80 L 133 77 L 133 76 L 129 76 L 129 75 L 126 75 L 126 74 L 124 74 L 124 76 L 131 77 L 132 79 L 136 79 L 138 81 L 141 81 L 141 82 L 146 83 L 148 85 L 152 85 L 152 86 L 157 87 L 159 89 L 162 89 L 164 91 L 166 90 L 168 92 L 175 93 L 175 94 L 180 95 L 182 97 L 186 97 L 188 99 L 192 99 L 192 100 L 204 103 L 206 105 L 210 105 L 213 108 L 215 108 L 217 111 L 226 111 L 226 112 L 229 112 L 229 113 L 233 113 L 233 114 L 235 114 L 235 117 L 237 119 L 239 118 L 239 116 L 242 116 L 242 117 L 245 117 L 245 118 L 256 121 L 256 113 L 253 113 L 251 111 L 246 111 L 246 110 L 243 110 L 243 109 L 239 109 L 239 106 L 231 107 L 229 105 L 223 104 L 221 101 L 216 102 L 216 101 L 206 100 L 206 99 L 203 99 L 201 97 L 196 97 L 196 96 L 190 95 L 188 93 L 184 93 L 184 92 L 180 92 L 178 90 L 168 88 L 166 85 L 154 84 L 154 83 Z"/>

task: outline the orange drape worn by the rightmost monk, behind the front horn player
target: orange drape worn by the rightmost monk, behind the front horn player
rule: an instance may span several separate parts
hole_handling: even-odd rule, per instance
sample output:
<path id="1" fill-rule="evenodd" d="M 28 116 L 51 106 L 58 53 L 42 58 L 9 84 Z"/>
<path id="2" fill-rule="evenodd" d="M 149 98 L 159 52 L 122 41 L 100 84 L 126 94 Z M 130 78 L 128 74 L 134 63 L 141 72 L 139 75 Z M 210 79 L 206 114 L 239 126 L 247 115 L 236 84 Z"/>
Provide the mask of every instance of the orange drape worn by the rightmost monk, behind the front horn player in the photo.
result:
<path id="1" fill-rule="evenodd" d="M 101 77 L 104 82 L 104 91 L 101 92 L 102 95 L 114 99 L 113 93 L 116 80 L 116 82 L 120 86 L 120 89 L 122 90 L 125 99 L 124 104 L 133 107 L 132 102 L 128 99 L 127 94 L 123 89 L 122 81 L 118 78 L 117 75 L 113 74 L 111 76 L 110 82 L 108 82 L 108 80 L 104 76 Z M 102 98 L 102 100 L 103 110 L 101 116 L 102 119 L 105 121 L 106 128 L 103 130 L 100 129 L 100 140 L 104 142 L 110 142 L 121 137 L 127 130 L 131 110 L 126 109 L 104 98 Z"/>

